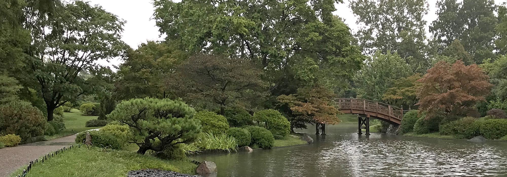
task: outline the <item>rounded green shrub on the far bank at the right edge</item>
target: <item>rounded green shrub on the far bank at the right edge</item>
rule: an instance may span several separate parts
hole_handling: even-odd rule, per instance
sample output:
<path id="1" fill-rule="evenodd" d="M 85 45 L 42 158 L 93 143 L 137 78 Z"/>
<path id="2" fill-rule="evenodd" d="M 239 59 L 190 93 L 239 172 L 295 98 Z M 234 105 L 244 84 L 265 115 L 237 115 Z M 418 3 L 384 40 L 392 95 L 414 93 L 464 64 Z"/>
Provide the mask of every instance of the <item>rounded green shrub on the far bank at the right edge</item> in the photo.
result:
<path id="1" fill-rule="evenodd" d="M 482 122 L 480 133 L 484 138 L 495 140 L 507 135 L 507 119 L 489 119 Z"/>

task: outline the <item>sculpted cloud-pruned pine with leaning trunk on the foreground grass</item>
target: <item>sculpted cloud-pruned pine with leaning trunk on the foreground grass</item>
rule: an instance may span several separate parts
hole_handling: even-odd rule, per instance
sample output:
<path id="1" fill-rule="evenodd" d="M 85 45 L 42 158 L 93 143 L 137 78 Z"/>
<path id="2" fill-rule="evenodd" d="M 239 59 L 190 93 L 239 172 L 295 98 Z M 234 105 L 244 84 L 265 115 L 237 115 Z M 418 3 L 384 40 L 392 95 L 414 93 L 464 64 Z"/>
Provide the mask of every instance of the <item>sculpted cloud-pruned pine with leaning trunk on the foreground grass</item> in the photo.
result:
<path id="1" fill-rule="evenodd" d="M 108 117 L 130 126 L 128 143 L 139 146 L 137 153 L 153 150 L 159 154 L 197 138 L 201 125 L 192 118 L 194 114 L 195 110 L 182 101 L 144 98 L 121 102 Z"/>

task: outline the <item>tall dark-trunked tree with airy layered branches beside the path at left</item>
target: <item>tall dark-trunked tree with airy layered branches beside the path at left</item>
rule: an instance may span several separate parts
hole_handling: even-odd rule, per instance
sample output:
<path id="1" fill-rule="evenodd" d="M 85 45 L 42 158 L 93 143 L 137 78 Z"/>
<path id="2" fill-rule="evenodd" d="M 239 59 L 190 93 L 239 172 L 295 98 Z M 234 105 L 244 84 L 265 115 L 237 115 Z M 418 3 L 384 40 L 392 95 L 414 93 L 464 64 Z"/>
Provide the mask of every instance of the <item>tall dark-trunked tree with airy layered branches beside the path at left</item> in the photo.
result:
<path id="1" fill-rule="evenodd" d="M 117 16 L 82 1 L 63 6 L 51 18 L 29 7 L 32 12 L 25 23 L 32 36 L 25 82 L 40 92 L 48 120 L 54 109 L 93 92 L 92 83 L 80 72 L 99 72 L 95 61 L 118 57 L 125 49 L 120 40 L 125 22 Z"/>

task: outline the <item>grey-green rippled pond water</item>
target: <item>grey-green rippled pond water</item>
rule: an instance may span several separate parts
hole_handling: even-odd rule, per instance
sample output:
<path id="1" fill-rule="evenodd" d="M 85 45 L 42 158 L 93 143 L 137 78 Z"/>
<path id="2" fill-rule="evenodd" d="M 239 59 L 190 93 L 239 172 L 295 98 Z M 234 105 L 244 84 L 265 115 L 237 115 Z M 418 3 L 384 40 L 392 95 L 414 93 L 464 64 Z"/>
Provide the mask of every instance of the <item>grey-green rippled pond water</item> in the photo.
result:
<path id="1" fill-rule="evenodd" d="M 327 126 L 314 144 L 192 157 L 217 176 L 507 176 L 507 143 L 358 136 L 357 125 Z M 305 130 L 311 132 L 311 130 Z"/>

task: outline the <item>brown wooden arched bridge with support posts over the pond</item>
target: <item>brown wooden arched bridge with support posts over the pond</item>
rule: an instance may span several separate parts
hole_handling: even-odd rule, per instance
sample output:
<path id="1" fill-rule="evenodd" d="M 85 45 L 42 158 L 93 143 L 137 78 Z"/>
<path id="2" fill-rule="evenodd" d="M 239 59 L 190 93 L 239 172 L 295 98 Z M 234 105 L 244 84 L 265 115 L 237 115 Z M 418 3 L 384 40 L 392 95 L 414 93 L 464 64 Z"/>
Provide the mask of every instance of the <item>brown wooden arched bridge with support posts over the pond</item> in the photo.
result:
<path id="1" fill-rule="evenodd" d="M 356 98 L 337 98 L 334 99 L 340 111 L 345 114 L 357 114 L 358 134 L 363 134 L 361 129 L 366 129 L 366 135 L 370 135 L 370 117 L 389 122 L 394 125 L 401 125 L 403 119 L 403 107 L 395 107 L 381 102 Z M 317 124 L 316 134 L 318 135 L 318 125 L 325 134 L 325 125 Z"/>

